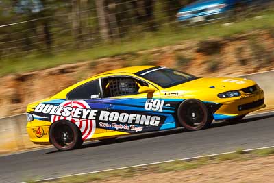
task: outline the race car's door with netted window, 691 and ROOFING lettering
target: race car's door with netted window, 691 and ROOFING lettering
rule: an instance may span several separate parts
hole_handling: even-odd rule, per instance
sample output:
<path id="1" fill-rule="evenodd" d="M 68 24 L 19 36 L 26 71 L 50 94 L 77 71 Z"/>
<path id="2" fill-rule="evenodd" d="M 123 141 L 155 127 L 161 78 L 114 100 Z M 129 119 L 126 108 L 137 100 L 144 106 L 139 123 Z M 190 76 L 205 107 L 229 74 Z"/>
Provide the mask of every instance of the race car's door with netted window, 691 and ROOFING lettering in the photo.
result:
<path id="1" fill-rule="evenodd" d="M 139 93 L 147 86 L 154 91 Z M 108 124 L 108 132 L 147 132 L 160 130 L 166 116 L 162 115 L 164 101 L 155 86 L 136 77 L 114 76 L 101 78 L 104 111 L 99 124 Z"/>

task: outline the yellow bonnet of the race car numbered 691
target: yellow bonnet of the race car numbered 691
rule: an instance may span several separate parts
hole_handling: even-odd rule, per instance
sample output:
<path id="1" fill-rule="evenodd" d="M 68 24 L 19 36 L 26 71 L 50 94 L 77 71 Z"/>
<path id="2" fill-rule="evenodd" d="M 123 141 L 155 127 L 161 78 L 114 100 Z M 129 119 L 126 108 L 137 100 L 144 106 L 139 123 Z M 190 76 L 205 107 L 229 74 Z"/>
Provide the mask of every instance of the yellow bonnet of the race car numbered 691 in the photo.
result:
<path id="1" fill-rule="evenodd" d="M 203 93 L 214 93 L 222 91 L 240 90 L 253 86 L 256 83 L 252 80 L 242 79 L 239 77 L 212 77 L 212 78 L 198 78 L 183 84 L 172 86 L 169 90 L 188 90 L 198 91 Z"/>

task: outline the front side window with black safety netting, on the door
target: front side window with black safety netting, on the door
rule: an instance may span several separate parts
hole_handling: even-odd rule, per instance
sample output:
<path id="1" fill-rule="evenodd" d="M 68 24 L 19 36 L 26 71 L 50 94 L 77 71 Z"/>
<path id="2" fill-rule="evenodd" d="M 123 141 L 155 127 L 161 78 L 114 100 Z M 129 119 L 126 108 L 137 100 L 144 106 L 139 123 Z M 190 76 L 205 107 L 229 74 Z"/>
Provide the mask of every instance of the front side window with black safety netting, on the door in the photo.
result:
<path id="1" fill-rule="evenodd" d="M 148 84 L 132 77 L 108 77 L 102 80 L 105 97 L 137 94 L 142 86 Z"/>

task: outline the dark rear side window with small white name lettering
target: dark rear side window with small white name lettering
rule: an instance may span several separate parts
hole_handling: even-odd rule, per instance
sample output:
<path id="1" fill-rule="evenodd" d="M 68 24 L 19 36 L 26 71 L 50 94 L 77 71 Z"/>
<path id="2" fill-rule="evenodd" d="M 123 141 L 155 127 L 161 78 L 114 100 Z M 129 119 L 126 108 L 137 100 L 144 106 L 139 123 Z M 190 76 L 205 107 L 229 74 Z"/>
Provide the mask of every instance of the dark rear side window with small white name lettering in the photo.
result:
<path id="1" fill-rule="evenodd" d="M 101 97 L 99 80 L 88 82 L 81 86 L 78 86 L 74 90 L 66 95 L 70 100 L 78 99 L 98 99 Z"/>

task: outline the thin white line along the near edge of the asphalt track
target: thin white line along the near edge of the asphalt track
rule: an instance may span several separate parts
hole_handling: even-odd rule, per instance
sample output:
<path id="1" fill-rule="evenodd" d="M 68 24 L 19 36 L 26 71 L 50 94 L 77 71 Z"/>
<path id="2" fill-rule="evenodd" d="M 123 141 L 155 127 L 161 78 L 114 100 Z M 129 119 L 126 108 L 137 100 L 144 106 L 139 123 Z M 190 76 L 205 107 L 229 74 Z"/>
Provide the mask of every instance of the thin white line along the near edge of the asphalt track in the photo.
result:
<path id="1" fill-rule="evenodd" d="M 268 148 L 274 148 L 274 146 L 258 147 L 258 148 L 253 148 L 253 149 L 245 149 L 243 151 L 247 152 L 247 151 L 254 151 L 254 150 L 268 149 Z M 175 159 L 175 160 L 151 162 L 151 163 L 147 163 L 147 164 L 138 164 L 138 165 L 133 165 L 133 166 L 128 166 L 128 167 L 120 167 L 120 168 L 116 168 L 116 169 L 106 169 L 106 170 L 100 170 L 100 171 L 90 171 L 90 172 L 86 172 L 86 173 L 76 173 L 76 174 L 73 174 L 73 175 L 65 175 L 65 176 L 60 176 L 60 177 L 55 177 L 55 178 L 47 178 L 47 179 L 36 180 L 36 182 L 57 180 L 57 179 L 60 179 L 60 178 L 71 178 L 71 177 L 78 176 L 78 175 L 88 175 L 88 174 L 92 174 L 92 173 L 102 173 L 102 172 L 107 172 L 107 171 L 116 171 L 116 170 L 129 169 L 129 168 L 134 168 L 134 167 L 145 167 L 145 166 L 149 166 L 149 165 L 162 164 L 162 163 L 166 163 L 166 162 L 175 162 L 175 161 L 183 161 L 183 160 L 195 160 L 197 158 L 208 158 L 208 157 L 212 157 L 212 156 L 220 156 L 220 155 L 223 155 L 223 154 L 232 154 L 232 153 L 235 153 L 235 152 L 236 151 L 229 151 L 229 152 L 219 153 L 219 154 L 209 154 L 209 155 L 203 155 L 203 156 L 195 156 L 195 157 L 191 157 L 191 158 L 181 158 L 181 159 Z M 29 183 L 29 182 L 21 182 L 21 183 Z"/>

